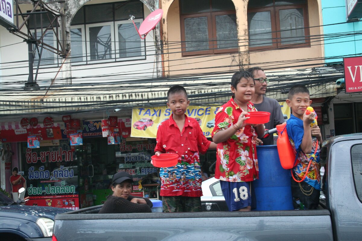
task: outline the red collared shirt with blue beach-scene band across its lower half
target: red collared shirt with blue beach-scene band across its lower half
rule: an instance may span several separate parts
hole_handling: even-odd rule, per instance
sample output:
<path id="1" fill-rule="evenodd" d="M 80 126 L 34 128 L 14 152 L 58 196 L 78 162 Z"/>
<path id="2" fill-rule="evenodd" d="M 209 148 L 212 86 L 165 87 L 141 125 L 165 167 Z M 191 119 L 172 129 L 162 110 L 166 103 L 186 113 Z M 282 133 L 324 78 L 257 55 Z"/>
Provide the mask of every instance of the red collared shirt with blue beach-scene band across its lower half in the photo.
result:
<path id="1" fill-rule="evenodd" d="M 160 195 L 201 197 L 199 152 L 205 153 L 211 142 L 194 118 L 185 115 L 185 126 L 180 132 L 172 116 L 159 125 L 155 152 L 175 153 L 179 158 L 176 166 L 160 168 Z"/>

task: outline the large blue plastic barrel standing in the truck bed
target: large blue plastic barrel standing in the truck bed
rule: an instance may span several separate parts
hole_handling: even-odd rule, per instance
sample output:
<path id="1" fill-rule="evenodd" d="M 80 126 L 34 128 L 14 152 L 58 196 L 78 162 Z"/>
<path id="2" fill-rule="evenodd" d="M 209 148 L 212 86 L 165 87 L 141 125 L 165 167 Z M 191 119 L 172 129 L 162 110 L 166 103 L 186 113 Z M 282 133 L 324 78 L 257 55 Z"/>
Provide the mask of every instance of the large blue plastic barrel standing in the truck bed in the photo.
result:
<path id="1" fill-rule="evenodd" d="M 256 199 L 253 210 L 293 210 L 290 169 L 282 168 L 277 145 L 256 147 L 259 179 L 252 182 Z"/>

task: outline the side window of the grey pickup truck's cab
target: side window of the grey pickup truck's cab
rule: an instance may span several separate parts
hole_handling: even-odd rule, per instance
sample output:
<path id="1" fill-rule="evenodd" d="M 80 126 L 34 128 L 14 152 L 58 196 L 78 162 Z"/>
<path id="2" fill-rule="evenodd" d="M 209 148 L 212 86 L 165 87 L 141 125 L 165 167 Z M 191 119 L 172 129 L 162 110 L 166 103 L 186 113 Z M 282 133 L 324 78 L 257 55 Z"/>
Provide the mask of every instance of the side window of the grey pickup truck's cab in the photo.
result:
<path id="1" fill-rule="evenodd" d="M 362 145 L 355 145 L 351 149 L 352 170 L 354 185 L 357 191 L 359 201 L 362 202 Z"/>

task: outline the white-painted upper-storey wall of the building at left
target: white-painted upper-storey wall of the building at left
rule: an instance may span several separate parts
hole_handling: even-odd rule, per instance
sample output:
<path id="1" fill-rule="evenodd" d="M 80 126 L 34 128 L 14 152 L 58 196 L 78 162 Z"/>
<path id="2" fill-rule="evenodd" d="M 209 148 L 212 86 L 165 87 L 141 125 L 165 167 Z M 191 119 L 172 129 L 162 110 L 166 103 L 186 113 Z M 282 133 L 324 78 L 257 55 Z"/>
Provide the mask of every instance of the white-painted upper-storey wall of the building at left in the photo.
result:
<path id="1" fill-rule="evenodd" d="M 151 11 L 144 6 L 144 16 L 148 16 Z M 131 21 L 130 21 L 131 22 Z M 25 31 L 25 30 L 23 30 Z M 3 26 L 0 26 L 0 46 L 6 46 L 9 44 L 14 44 L 12 46 L 0 48 L 0 63 L 3 62 L 13 62 L 13 61 L 22 61 L 21 63 L 13 63 L 13 64 L 2 64 L 0 65 L 2 68 L 9 68 L 0 70 L 0 76 L 13 75 L 17 74 L 18 76 L 14 77 L 0 77 L 0 82 L 4 81 L 27 81 L 28 80 L 28 45 L 25 42 L 22 42 L 23 39 L 9 33 Z M 147 51 L 151 49 L 151 51 Z M 146 59 L 145 60 L 132 60 L 132 61 L 118 61 L 114 60 L 106 63 L 99 64 L 83 64 L 83 65 L 73 65 L 72 69 L 72 77 L 87 77 L 92 76 L 93 78 L 84 79 L 82 82 L 112 82 L 119 81 L 121 77 L 115 77 L 113 80 L 108 80 L 100 77 L 95 77 L 99 75 L 105 74 L 122 74 L 122 73 L 130 73 L 131 77 L 150 77 L 150 73 L 154 72 L 154 76 L 156 77 L 156 61 L 155 51 L 154 51 L 154 39 L 153 39 L 153 31 L 151 31 L 146 36 Z M 61 65 L 63 59 L 59 60 L 59 66 Z M 89 63 L 89 62 L 88 62 Z M 90 62 L 91 63 L 91 62 Z M 126 65 L 126 66 L 125 66 Z M 41 67 L 39 69 L 37 82 L 39 85 L 49 85 L 49 80 L 53 79 L 56 76 L 56 72 L 59 70 L 59 66 L 54 67 Z M 36 69 L 34 69 L 35 76 Z M 22 75 L 24 74 L 24 75 Z M 152 73 L 151 73 L 152 77 Z M 58 74 L 57 78 L 62 78 L 62 73 Z M 124 78 L 124 77 L 122 77 Z M 42 83 L 42 80 L 48 80 L 46 83 Z M 77 80 L 73 80 L 72 83 L 76 83 Z M 56 83 L 58 83 L 56 81 Z M 63 83 L 63 82 L 59 82 Z M 22 84 L 23 85 L 23 84 Z"/>

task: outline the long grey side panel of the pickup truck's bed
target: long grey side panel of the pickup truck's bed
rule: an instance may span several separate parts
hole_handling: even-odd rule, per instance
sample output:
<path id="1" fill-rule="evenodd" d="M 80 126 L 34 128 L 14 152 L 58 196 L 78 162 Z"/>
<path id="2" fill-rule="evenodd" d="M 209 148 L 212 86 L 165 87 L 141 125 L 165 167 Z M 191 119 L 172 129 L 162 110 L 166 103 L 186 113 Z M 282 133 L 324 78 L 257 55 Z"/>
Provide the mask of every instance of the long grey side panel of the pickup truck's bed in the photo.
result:
<path id="1" fill-rule="evenodd" d="M 58 241 L 333 240 L 328 210 L 59 214 Z"/>

